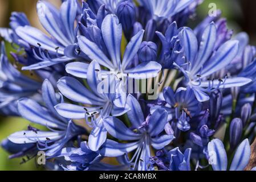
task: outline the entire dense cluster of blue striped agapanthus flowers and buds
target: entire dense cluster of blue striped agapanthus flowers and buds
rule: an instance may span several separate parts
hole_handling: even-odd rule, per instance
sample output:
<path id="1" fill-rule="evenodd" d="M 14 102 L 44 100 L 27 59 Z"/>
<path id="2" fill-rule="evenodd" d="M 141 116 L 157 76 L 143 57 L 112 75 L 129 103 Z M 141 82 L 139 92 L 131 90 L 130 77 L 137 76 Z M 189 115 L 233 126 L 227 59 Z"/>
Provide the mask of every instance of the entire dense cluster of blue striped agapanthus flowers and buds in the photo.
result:
<path id="1" fill-rule="evenodd" d="M 10 158 L 43 151 L 52 170 L 245 169 L 256 49 L 219 11 L 186 27 L 201 2 L 38 1 L 47 34 L 11 14 L 0 112 L 31 125 L 2 141 Z"/>

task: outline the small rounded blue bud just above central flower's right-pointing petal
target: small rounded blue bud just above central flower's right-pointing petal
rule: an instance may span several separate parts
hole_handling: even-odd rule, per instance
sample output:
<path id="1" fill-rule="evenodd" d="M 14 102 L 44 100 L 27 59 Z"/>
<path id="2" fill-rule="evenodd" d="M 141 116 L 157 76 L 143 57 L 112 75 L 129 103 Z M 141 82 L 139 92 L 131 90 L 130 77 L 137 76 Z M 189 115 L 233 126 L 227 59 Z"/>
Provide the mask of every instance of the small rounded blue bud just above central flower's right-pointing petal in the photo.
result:
<path id="1" fill-rule="evenodd" d="M 156 61 L 157 46 L 153 42 L 142 42 L 138 53 L 141 62 Z"/>

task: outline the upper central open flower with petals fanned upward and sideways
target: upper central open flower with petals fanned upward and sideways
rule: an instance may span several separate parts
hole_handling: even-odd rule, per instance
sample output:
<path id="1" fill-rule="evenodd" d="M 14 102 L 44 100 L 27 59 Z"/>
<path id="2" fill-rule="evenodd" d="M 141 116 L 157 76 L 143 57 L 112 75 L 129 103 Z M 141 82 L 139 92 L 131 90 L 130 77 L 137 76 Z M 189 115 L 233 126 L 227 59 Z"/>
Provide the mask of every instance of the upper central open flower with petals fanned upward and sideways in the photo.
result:
<path id="1" fill-rule="evenodd" d="M 107 49 L 108 55 L 94 42 L 85 36 L 78 36 L 78 44 L 80 49 L 91 59 L 96 60 L 101 66 L 108 68 L 115 72 L 118 78 L 129 77 L 135 79 L 144 79 L 155 77 L 161 70 L 161 65 L 154 62 L 146 62 L 137 65 L 134 68 L 129 67 L 133 59 L 139 51 L 141 41 L 143 39 L 144 31 L 139 31 L 125 48 L 123 60 L 121 61 L 121 38 L 122 27 L 116 15 L 110 14 L 105 16 L 101 24 L 101 33 Z M 80 67 L 80 63 L 71 63 L 66 67 L 66 71 L 74 76 L 84 78 L 81 73 L 87 72 L 86 64 Z M 110 75 L 110 73 L 108 73 Z"/>

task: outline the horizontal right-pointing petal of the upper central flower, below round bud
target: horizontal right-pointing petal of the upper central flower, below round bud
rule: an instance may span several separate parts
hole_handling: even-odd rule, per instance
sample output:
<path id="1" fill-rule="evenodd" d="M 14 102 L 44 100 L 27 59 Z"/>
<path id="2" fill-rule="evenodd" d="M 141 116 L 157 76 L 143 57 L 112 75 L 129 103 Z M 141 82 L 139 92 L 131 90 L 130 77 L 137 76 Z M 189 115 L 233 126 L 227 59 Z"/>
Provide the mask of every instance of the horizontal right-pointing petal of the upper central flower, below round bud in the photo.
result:
<path id="1" fill-rule="evenodd" d="M 135 78 L 138 80 L 145 78 L 153 78 L 158 75 L 161 71 L 161 65 L 155 61 L 150 61 L 148 63 L 141 63 L 137 67 L 132 69 L 127 69 L 124 73 L 129 74 L 129 78 Z"/>

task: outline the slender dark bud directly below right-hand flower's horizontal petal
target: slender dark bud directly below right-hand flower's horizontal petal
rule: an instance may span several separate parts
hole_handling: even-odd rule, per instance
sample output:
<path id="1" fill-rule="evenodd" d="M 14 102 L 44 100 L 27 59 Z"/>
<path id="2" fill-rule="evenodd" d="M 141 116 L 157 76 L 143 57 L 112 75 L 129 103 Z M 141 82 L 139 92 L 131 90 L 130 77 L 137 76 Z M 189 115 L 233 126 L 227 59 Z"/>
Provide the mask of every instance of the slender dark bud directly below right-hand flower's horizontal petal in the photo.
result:
<path id="1" fill-rule="evenodd" d="M 216 122 L 217 118 L 220 115 L 222 105 L 222 93 L 220 90 L 212 92 L 210 94 L 210 120 L 211 123 Z"/>

